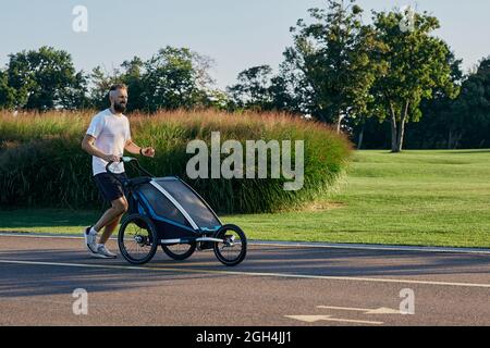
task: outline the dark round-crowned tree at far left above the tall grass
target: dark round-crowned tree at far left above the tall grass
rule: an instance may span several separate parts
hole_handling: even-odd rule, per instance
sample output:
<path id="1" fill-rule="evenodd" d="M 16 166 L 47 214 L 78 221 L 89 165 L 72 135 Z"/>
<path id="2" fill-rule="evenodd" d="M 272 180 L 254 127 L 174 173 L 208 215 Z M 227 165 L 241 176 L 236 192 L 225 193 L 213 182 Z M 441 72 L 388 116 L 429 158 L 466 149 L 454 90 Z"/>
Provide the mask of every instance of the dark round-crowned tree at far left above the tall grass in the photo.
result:
<path id="1" fill-rule="evenodd" d="M 75 72 L 68 52 L 41 47 L 9 58 L 8 84 L 15 90 L 17 108 L 46 111 L 79 108 L 84 102 L 84 98 L 73 98 L 86 92 L 86 80 L 83 72 Z"/>

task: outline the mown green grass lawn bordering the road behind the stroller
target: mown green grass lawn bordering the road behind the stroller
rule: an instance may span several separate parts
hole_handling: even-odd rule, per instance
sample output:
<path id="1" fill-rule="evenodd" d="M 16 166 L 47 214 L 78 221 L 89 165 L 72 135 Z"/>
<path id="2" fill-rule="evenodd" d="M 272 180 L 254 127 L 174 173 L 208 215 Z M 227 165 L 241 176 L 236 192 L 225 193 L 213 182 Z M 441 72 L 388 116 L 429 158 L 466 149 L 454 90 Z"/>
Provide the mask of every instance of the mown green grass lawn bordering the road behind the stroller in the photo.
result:
<path id="1" fill-rule="evenodd" d="M 0 231 L 79 233 L 101 212 L 0 212 Z M 306 210 L 223 216 L 250 239 L 490 247 L 489 151 L 357 151 L 336 194 Z"/>

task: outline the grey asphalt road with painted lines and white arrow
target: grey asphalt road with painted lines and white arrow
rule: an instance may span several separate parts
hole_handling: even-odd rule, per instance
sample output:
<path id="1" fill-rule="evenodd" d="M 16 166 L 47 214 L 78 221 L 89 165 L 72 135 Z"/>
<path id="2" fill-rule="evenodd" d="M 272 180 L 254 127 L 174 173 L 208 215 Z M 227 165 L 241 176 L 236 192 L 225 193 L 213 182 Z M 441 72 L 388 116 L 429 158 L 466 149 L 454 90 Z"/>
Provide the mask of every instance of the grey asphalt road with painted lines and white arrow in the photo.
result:
<path id="1" fill-rule="evenodd" d="M 0 235 L 0 325 L 490 325 L 490 254 L 252 245 L 236 268 L 212 251 L 135 268 Z"/>

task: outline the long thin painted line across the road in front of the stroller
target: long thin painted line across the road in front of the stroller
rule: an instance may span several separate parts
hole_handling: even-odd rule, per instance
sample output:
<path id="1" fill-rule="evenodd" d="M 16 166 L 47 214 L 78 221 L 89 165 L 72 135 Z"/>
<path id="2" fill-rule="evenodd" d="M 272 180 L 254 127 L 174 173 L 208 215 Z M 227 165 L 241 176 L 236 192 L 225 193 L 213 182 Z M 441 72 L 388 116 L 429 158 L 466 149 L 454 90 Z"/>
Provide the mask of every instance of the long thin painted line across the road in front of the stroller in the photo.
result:
<path id="1" fill-rule="evenodd" d="M 351 276 L 329 276 L 329 275 L 308 275 L 308 274 L 287 274 L 287 273 L 218 271 L 218 270 L 203 270 L 203 269 L 188 269 L 188 268 L 174 269 L 174 268 L 159 268 L 159 266 L 132 266 L 132 265 L 63 263 L 63 262 L 39 262 L 39 261 L 16 261 L 16 260 L 0 260 L 0 263 L 3 263 L 3 264 L 26 264 L 26 265 L 52 265 L 52 266 L 89 268 L 89 269 L 102 269 L 102 270 L 106 269 L 106 270 L 162 271 L 162 272 L 176 272 L 176 273 L 228 274 L 228 275 L 248 275 L 248 276 L 282 277 L 282 278 L 304 278 L 304 279 L 394 283 L 394 284 L 419 284 L 419 285 L 437 285 L 437 286 L 490 288 L 490 284 L 449 283 L 449 282 L 392 279 L 392 278 L 371 278 L 371 277 L 351 277 Z"/>

